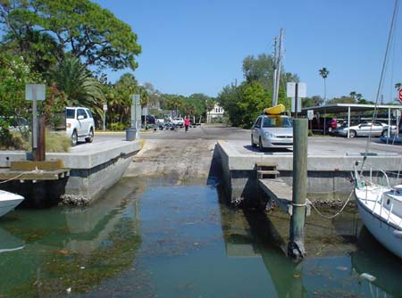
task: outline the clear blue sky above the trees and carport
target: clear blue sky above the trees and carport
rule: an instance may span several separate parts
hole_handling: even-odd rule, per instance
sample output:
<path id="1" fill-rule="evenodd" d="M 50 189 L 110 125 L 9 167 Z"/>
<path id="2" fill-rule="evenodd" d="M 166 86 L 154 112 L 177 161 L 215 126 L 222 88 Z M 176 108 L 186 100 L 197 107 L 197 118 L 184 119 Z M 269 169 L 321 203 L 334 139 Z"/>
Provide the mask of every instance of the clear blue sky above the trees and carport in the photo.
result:
<path id="1" fill-rule="evenodd" d="M 273 37 L 282 28 L 283 66 L 306 82 L 308 96 L 323 96 L 318 70 L 326 67 L 327 98 L 356 91 L 368 100 L 377 92 L 394 6 L 394 0 L 94 2 L 138 34 L 142 54 L 133 74 L 163 93 L 216 96 L 244 80 L 247 55 L 272 54 Z M 396 97 L 393 85 L 402 82 L 401 26 L 399 20 L 384 102 Z M 124 72 L 109 72 L 108 78 L 115 81 Z"/>

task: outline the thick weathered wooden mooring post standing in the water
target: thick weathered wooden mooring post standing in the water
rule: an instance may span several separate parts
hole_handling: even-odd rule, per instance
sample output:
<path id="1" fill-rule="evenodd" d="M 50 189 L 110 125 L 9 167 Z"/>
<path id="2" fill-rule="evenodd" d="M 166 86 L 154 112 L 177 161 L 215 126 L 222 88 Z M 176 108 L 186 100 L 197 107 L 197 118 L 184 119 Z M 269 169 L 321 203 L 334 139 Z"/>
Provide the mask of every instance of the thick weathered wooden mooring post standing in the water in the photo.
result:
<path id="1" fill-rule="evenodd" d="M 288 255 L 297 261 L 305 256 L 307 124 L 306 119 L 293 120 L 293 194 Z"/>

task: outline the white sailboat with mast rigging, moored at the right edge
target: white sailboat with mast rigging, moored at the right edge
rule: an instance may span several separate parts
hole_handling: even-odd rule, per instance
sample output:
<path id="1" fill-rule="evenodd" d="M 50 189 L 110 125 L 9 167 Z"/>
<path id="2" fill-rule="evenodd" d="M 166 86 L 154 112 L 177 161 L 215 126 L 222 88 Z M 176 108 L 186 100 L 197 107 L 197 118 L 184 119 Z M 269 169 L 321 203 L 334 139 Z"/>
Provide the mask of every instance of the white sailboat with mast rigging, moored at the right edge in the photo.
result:
<path id="1" fill-rule="evenodd" d="M 384 70 L 389 54 L 389 45 L 395 28 L 399 0 L 395 8 L 389 30 L 389 42 L 381 72 L 380 85 L 377 92 L 377 103 L 384 79 Z M 375 118 L 376 110 L 373 113 Z M 390 186 L 385 170 L 373 169 L 366 162 L 370 138 L 367 141 L 363 161 L 356 161 L 354 179 L 355 196 L 360 216 L 370 233 L 390 252 L 402 259 L 402 185 Z M 359 169 L 358 169 L 359 168 Z M 373 177 L 377 172 L 381 177 Z M 368 173 L 368 177 L 364 177 Z M 399 175 L 398 177 L 399 178 Z"/>

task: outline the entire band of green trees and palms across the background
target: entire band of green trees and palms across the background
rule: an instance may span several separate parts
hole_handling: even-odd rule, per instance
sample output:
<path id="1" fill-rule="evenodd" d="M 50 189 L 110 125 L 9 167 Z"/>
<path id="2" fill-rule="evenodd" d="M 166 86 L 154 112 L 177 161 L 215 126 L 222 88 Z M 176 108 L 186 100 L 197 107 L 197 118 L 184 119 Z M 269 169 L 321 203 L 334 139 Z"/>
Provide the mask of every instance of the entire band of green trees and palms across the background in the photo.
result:
<path id="1" fill-rule="evenodd" d="M 29 118 L 25 85 L 46 84 L 46 100 L 39 109 L 46 121 L 66 106 L 91 109 L 98 123 L 104 117 L 107 128 L 130 124 L 132 95 L 139 94 L 143 106 L 158 107 L 177 114 L 199 117 L 219 103 L 233 126 L 248 128 L 264 108 L 272 105 L 274 58 L 271 54 L 249 55 L 242 62 L 244 81 L 231 82 L 213 98 L 202 93 L 189 96 L 163 94 L 150 83 L 143 85 L 131 73 L 141 53 L 138 36 L 130 25 L 89 0 L 0 0 L 0 137 L 8 137 L 11 117 Z M 129 70 L 116 82 L 108 81 L 105 70 Z M 303 106 L 326 103 L 369 103 L 352 91 L 348 96 L 326 100 L 326 79 L 322 68 L 324 99 L 314 95 Z M 286 84 L 297 82 L 297 74 L 280 74 L 278 103 L 288 109 Z M 397 86 L 398 85 L 398 86 Z M 396 87 L 400 88 L 398 83 Z M 163 116 L 161 113 L 159 116 Z"/>

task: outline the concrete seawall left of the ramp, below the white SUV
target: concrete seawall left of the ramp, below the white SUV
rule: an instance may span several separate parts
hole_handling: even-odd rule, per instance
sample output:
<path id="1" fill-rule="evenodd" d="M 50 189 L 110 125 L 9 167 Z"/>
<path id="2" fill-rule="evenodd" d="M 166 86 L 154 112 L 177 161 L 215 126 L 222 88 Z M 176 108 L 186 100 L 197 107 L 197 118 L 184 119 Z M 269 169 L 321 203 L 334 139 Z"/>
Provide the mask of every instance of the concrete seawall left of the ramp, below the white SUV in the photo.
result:
<path id="1" fill-rule="evenodd" d="M 0 188 L 21 195 L 38 193 L 43 198 L 35 201 L 49 201 L 52 194 L 86 203 L 96 200 L 113 186 L 124 174 L 132 157 L 140 149 L 139 141 L 105 141 L 97 144 L 78 145 L 70 153 L 46 153 L 46 161 L 62 160 L 65 168 L 70 168 L 70 176 L 56 181 L 24 181 L 18 179 L 0 184 Z M 11 161 L 26 160 L 27 154 L 17 151 L 0 152 L 0 168 L 8 168 Z M 33 195 L 35 196 L 35 194 Z M 53 198 L 54 199 L 54 198 Z M 47 203 L 46 203 L 47 204 Z"/>

